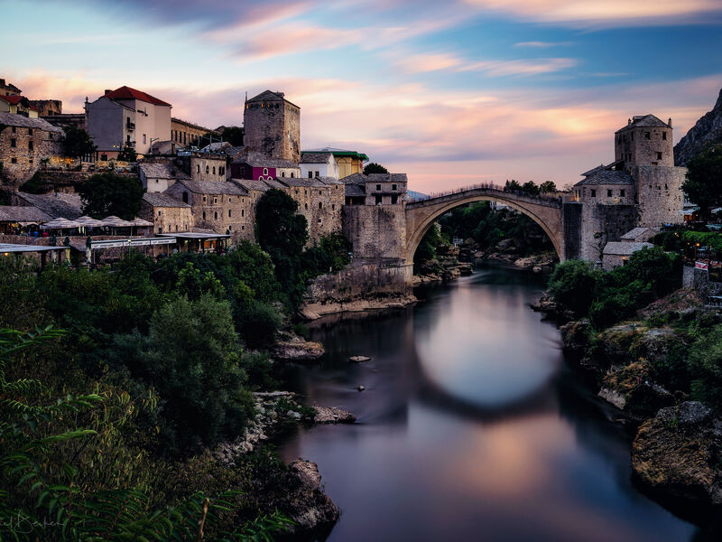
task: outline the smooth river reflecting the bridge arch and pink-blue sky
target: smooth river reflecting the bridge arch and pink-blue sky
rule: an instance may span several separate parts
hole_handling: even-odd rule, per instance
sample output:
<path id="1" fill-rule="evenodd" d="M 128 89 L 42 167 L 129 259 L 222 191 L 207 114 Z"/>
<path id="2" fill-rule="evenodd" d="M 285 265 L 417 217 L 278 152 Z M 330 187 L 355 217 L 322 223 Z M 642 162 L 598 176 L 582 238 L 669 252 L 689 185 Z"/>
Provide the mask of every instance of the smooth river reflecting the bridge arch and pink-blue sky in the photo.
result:
<path id="1" fill-rule="evenodd" d="M 327 354 L 292 385 L 358 420 L 301 429 L 280 452 L 319 464 L 341 509 L 329 541 L 693 537 L 634 488 L 629 435 L 529 309 L 542 287 L 483 266 L 405 311 L 313 326 Z"/>

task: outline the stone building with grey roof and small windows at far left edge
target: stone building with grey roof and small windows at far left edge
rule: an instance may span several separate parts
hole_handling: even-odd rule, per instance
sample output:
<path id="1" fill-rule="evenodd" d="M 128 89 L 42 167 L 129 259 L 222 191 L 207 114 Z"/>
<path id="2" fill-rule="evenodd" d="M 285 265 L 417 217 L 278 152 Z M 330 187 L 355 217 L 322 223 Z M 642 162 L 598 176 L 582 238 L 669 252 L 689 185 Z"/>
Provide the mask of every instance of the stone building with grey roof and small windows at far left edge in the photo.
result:
<path id="1" fill-rule="evenodd" d="M 41 118 L 0 113 L 0 175 L 14 186 L 28 181 L 43 160 L 60 154 L 61 136 Z"/>

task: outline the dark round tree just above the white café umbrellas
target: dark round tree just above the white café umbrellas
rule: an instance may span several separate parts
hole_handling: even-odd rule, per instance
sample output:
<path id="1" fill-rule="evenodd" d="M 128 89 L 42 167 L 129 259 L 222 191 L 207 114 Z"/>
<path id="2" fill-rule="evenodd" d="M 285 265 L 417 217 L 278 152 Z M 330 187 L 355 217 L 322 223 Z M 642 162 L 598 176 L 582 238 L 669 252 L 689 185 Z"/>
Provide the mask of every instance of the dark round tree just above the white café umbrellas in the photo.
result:
<path id="1" fill-rule="evenodd" d="M 116 215 L 133 220 L 141 210 L 145 189 L 137 177 L 97 173 L 80 186 L 83 213 L 94 219 Z"/>

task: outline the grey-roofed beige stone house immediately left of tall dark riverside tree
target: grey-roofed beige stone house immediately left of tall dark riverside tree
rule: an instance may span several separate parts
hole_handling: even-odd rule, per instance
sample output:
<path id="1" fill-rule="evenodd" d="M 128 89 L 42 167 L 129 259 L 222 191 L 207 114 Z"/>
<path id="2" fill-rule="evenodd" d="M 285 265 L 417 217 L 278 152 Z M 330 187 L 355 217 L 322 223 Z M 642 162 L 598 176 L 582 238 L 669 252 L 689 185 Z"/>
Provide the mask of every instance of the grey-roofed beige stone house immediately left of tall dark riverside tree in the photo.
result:
<path id="1" fill-rule="evenodd" d="M 162 192 L 188 203 L 193 227 L 212 229 L 231 239 L 253 239 L 250 194 L 233 182 L 179 181 Z"/>

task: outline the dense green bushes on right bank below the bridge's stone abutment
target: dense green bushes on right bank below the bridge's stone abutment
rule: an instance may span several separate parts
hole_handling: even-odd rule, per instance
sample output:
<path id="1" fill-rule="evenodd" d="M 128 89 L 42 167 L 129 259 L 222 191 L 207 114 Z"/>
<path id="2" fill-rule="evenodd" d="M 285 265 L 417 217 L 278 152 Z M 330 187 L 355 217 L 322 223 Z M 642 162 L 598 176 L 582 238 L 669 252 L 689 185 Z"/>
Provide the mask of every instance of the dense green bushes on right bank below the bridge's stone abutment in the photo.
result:
<path id="1" fill-rule="evenodd" d="M 549 281 L 555 301 L 603 329 L 681 285 L 681 259 L 662 248 L 643 248 L 627 265 L 604 272 L 581 260 L 558 265 Z"/>

